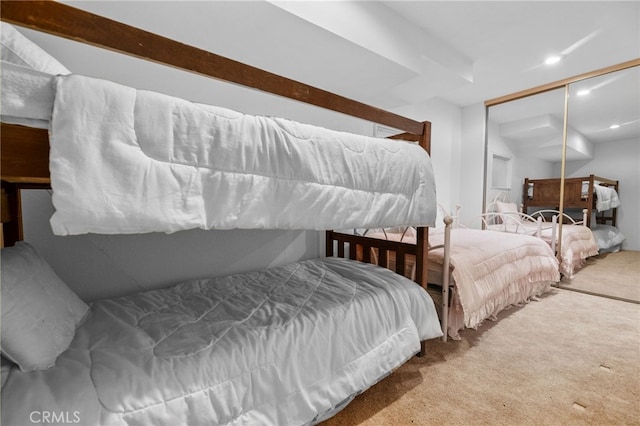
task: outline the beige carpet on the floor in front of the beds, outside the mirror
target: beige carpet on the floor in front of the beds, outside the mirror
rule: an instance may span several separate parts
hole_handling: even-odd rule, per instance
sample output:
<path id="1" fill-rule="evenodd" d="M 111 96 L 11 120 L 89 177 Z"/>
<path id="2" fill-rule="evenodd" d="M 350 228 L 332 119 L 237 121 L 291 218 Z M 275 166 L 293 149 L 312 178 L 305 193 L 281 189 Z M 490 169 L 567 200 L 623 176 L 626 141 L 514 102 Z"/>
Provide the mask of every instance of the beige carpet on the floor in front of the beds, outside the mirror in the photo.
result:
<path id="1" fill-rule="evenodd" d="M 640 425 L 640 305 L 553 289 L 429 341 L 334 425 Z"/>

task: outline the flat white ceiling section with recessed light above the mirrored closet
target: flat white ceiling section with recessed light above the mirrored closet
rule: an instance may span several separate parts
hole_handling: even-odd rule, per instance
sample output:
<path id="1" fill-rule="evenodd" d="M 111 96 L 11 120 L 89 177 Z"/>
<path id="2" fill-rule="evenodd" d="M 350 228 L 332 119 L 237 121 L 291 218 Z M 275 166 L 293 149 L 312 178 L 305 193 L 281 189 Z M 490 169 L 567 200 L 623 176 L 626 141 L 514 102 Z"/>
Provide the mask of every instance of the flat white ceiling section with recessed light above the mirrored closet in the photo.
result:
<path id="1" fill-rule="evenodd" d="M 636 1 L 384 3 L 473 61 L 473 83 L 440 95 L 461 106 L 640 57 Z"/>

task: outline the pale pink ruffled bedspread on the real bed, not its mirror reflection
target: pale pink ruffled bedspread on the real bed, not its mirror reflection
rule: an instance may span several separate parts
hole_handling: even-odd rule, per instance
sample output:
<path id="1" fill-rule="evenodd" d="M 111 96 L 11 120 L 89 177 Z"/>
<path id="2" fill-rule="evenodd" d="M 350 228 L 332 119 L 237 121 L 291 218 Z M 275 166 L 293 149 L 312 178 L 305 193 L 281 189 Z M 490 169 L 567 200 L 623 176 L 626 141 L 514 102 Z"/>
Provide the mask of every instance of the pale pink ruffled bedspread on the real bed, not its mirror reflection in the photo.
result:
<path id="1" fill-rule="evenodd" d="M 391 232 L 367 236 L 399 240 L 399 234 Z M 403 241 L 415 243 L 415 237 L 408 234 Z M 443 243 L 442 230 L 430 229 L 429 245 Z M 442 248 L 431 250 L 428 270 L 441 271 L 443 256 Z M 452 229 L 450 269 L 454 287 L 448 334 L 453 339 L 462 328 L 477 328 L 503 309 L 546 293 L 560 280 L 558 260 L 546 242 L 498 231 Z"/>

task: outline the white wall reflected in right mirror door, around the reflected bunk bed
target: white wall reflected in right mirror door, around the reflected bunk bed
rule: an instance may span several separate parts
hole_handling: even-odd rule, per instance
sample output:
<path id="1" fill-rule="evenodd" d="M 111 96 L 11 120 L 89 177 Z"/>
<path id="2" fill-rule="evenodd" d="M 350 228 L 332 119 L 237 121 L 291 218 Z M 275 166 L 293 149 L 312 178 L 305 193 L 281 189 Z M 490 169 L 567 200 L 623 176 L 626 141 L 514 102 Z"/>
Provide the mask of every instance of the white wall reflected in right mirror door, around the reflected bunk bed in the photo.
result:
<path id="1" fill-rule="evenodd" d="M 565 172 L 567 177 L 596 175 L 620 181 L 617 227 L 626 237 L 622 248 L 640 250 L 640 140 L 594 144 L 592 160 L 568 161 Z"/>

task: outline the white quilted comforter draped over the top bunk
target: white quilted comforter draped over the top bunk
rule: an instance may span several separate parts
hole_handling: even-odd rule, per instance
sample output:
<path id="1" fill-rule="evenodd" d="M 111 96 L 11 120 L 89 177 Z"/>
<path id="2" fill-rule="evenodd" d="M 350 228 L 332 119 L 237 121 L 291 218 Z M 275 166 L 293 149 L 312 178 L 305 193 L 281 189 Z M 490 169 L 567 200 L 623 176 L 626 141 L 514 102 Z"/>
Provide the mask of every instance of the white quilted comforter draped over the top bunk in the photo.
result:
<path id="1" fill-rule="evenodd" d="M 241 114 L 79 75 L 51 123 L 57 235 L 435 222 L 416 144 Z"/>

